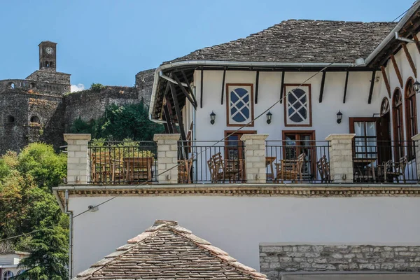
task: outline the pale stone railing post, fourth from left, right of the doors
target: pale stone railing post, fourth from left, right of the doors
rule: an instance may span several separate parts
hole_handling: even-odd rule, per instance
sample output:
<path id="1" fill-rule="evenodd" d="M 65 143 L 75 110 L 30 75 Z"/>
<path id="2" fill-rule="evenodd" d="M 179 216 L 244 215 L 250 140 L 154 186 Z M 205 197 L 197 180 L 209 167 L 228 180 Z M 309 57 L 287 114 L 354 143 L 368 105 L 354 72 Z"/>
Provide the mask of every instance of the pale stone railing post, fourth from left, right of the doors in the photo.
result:
<path id="1" fill-rule="evenodd" d="M 332 183 L 353 183 L 353 138 L 356 134 L 330 134 L 330 172 Z"/>

